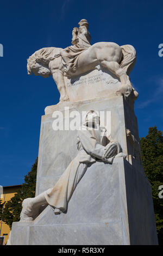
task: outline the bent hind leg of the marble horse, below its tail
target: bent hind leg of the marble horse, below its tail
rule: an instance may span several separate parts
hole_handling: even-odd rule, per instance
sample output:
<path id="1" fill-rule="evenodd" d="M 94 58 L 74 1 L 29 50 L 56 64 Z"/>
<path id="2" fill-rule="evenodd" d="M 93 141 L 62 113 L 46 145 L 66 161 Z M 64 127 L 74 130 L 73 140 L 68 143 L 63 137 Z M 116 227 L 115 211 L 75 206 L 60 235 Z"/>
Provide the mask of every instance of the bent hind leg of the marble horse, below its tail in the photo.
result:
<path id="1" fill-rule="evenodd" d="M 124 96 L 128 97 L 133 87 L 131 86 L 129 76 L 126 74 L 126 71 L 123 70 L 120 64 L 118 64 L 117 62 L 102 60 L 101 65 L 109 69 L 118 78 L 120 78 L 121 88 L 117 91 L 117 93 L 124 94 Z"/>

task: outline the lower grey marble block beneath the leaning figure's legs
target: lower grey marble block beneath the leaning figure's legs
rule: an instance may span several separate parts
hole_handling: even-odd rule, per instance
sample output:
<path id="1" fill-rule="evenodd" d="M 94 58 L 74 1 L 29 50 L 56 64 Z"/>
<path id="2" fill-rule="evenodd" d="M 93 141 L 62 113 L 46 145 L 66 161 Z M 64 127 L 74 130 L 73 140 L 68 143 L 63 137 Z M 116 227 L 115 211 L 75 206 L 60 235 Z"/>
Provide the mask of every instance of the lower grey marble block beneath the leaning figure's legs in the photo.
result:
<path id="1" fill-rule="evenodd" d="M 157 245 L 151 186 L 123 157 L 87 168 L 66 214 L 14 222 L 11 245 Z"/>

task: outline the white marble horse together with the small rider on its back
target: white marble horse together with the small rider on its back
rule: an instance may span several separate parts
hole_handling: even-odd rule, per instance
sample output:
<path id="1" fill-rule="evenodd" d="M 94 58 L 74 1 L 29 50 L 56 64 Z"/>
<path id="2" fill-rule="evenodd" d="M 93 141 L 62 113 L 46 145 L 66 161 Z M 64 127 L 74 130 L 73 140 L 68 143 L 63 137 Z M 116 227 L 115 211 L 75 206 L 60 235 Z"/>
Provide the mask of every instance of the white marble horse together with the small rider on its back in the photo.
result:
<path id="1" fill-rule="evenodd" d="M 65 76 L 79 77 L 100 65 L 101 69 L 110 71 L 120 80 L 121 86 L 116 94 L 124 95 L 125 99 L 130 98 L 134 102 L 138 93 L 130 82 L 129 74 L 136 62 L 135 48 L 132 45 L 120 46 L 115 42 L 96 42 L 91 45 L 88 22 L 83 19 L 78 24 L 79 28 L 73 28 L 72 31 L 71 46 L 65 49 L 45 47 L 32 54 L 27 63 L 28 74 L 33 72 L 43 77 L 52 75 L 62 102 L 69 100 Z"/>

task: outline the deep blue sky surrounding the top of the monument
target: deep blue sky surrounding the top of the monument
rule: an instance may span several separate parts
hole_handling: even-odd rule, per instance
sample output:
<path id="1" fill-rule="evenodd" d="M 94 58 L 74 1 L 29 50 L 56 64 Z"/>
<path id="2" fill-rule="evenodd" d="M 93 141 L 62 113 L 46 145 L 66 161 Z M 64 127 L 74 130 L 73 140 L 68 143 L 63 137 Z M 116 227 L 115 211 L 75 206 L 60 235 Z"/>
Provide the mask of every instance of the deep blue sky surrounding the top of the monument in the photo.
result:
<path id="1" fill-rule="evenodd" d="M 21 184 L 38 154 L 41 115 L 59 101 L 52 77 L 27 75 L 27 58 L 42 47 L 71 45 L 72 28 L 89 21 L 91 44 L 113 41 L 136 48 L 131 82 L 140 137 L 148 127 L 163 130 L 162 1 L 1 1 L 0 184 Z"/>

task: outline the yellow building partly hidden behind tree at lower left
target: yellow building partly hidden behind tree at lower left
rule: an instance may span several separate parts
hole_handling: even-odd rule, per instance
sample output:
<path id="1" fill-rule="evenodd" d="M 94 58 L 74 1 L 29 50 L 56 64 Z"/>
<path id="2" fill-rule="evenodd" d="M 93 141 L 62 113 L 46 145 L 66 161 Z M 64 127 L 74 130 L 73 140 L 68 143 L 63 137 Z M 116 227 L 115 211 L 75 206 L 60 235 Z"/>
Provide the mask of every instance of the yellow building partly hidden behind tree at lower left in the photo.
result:
<path id="1" fill-rule="evenodd" d="M 1 196 L 2 203 L 4 203 L 4 201 L 5 202 L 9 201 L 12 197 L 14 197 L 14 194 L 20 189 L 21 189 L 21 185 L 3 187 L 3 194 Z M 0 222 L 0 228 L 1 228 L 1 222 Z M 10 228 L 7 224 L 5 224 L 2 221 L 2 228 L 1 228 L 0 236 L 3 236 L 3 234 L 8 234 L 8 235 L 4 236 L 3 245 L 5 245 L 8 241 L 8 237 L 9 237 L 9 234 L 10 234 Z"/>

